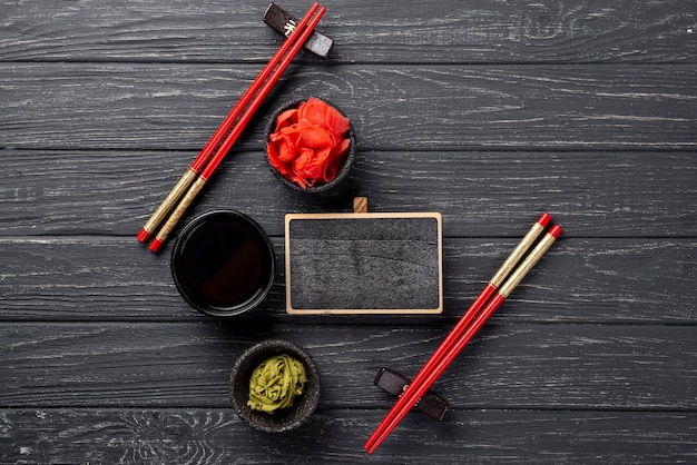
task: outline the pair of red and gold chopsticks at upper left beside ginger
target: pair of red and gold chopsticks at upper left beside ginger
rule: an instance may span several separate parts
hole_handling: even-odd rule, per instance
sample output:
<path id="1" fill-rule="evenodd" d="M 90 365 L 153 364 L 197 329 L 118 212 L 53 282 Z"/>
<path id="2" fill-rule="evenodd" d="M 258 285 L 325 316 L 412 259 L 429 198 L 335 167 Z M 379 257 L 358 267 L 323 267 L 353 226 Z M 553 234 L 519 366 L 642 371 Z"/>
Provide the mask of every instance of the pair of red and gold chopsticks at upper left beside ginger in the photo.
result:
<path id="1" fill-rule="evenodd" d="M 189 169 L 179 179 L 165 200 L 163 200 L 157 210 L 155 210 L 143 229 L 140 229 L 137 238 L 140 243 L 145 244 L 165 218 L 167 218 L 167 215 L 169 215 L 167 221 L 165 221 L 150 244 L 150 250 L 158 251 L 160 249 L 174 227 L 198 196 L 206 181 L 210 179 L 210 176 L 220 165 L 230 147 L 233 147 L 239 138 L 239 135 L 247 127 L 252 117 L 258 110 L 266 96 L 268 96 L 274 85 L 307 41 L 325 11 L 326 8 L 320 8 L 317 3 L 314 3 L 312 8 L 307 10 L 307 13 L 305 13 L 303 19 L 297 23 L 291 36 L 284 40 L 278 51 L 276 51 L 266 67 L 264 67 L 254 82 L 252 82 L 247 91 L 242 96 L 237 105 L 235 105 L 235 108 L 233 108 L 225 120 L 223 120 L 220 127 L 215 131 L 210 140 L 208 140 Z M 245 110 L 247 103 L 249 103 L 249 106 Z M 225 140 L 223 140 L 224 138 Z M 213 158 L 210 158 L 212 156 Z M 208 159 L 210 159 L 210 162 L 206 165 Z"/>

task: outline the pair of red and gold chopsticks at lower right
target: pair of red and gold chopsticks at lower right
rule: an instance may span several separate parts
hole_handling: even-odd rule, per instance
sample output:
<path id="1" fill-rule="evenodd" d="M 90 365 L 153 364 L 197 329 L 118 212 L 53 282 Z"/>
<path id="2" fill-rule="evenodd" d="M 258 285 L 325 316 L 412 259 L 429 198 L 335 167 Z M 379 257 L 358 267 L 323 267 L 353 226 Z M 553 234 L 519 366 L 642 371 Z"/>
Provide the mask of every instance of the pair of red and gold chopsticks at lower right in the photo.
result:
<path id="1" fill-rule="evenodd" d="M 561 235 L 561 227 L 553 225 L 533 247 L 537 239 L 551 221 L 551 216 L 543 214 L 537 220 L 518 246 L 493 275 L 484 289 L 474 299 L 458 325 L 445 337 L 431 358 L 421 368 L 404 393 L 387 413 L 363 448 L 369 454 L 375 452 L 394 427 L 406 416 L 409 410 L 429 390 L 460 352 L 474 337 L 477 332 L 493 315 L 501 303 L 513 291 L 522 278 L 532 269 L 547 249 Z M 531 250 L 532 249 L 532 250 Z"/>

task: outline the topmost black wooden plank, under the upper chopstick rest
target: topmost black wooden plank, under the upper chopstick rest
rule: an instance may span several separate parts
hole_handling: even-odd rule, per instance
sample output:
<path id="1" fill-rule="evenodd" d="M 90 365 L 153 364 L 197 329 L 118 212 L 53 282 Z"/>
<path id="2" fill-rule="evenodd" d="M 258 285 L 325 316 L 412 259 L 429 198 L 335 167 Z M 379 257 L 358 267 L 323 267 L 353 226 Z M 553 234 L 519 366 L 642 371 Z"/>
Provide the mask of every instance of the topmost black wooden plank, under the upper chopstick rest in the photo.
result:
<path id="1" fill-rule="evenodd" d="M 2 60 L 263 61 L 279 36 L 268 1 L 6 2 Z M 301 16 L 301 3 L 279 2 Z M 320 29 L 345 62 L 695 62 L 689 1 L 438 3 L 328 0 Z"/>

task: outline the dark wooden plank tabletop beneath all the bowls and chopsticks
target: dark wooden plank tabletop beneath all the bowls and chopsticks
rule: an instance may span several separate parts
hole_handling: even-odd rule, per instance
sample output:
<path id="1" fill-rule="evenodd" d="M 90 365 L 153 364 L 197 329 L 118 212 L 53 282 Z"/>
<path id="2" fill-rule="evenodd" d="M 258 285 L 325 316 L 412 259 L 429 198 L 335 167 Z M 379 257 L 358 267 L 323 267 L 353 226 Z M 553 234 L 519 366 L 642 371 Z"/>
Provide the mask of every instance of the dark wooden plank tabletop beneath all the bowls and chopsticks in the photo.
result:
<path id="1" fill-rule="evenodd" d="M 135 235 L 281 37 L 264 1 L 0 4 L 0 463 L 697 462 L 697 3 L 328 1 L 186 220 L 243 211 L 283 263 L 286 212 L 440 211 L 445 310 L 295 316 L 181 299 Z M 297 16 L 310 3 L 281 3 Z M 336 192 L 282 186 L 264 127 L 317 96 L 353 120 Z M 565 235 L 369 456 L 393 399 L 541 211 Z M 279 267 L 281 269 L 281 267 Z M 304 346 L 318 409 L 284 435 L 228 399 L 256 342 Z"/>

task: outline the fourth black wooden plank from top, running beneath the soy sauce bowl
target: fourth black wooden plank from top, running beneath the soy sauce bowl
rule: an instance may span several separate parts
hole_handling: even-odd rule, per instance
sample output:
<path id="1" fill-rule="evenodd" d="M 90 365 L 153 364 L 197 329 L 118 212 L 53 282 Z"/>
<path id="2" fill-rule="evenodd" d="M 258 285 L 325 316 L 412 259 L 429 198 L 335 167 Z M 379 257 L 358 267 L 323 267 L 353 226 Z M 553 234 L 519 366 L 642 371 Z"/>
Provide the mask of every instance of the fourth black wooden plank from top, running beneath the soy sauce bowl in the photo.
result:
<path id="1" fill-rule="evenodd" d="M 520 235 L 524 227 L 519 226 Z M 283 244 L 274 239 L 278 268 Z M 441 317 L 397 318 L 405 325 L 453 321 L 493 275 L 516 239 L 444 239 Z M 691 239 L 568 239 L 556 244 L 505 304 L 501 321 L 697 321 Z M 155 256 L 135 238 L 4 238 L 2 320 L 200 319 L 177 293 L 169 249 Z M 284 314 L 284 277 L 252 315 L 271 321 L 323 324 Z M 244 319 L 244 318 L 243 318 Z M 235 319 L 236 320 L 236 319 Z M 351 319 L 337 319 L 351 321 Z M 362 321 L 367 319 L 363 317 Z M 395 319 L 377 318 L 376 325 Z"/>

